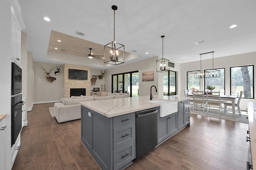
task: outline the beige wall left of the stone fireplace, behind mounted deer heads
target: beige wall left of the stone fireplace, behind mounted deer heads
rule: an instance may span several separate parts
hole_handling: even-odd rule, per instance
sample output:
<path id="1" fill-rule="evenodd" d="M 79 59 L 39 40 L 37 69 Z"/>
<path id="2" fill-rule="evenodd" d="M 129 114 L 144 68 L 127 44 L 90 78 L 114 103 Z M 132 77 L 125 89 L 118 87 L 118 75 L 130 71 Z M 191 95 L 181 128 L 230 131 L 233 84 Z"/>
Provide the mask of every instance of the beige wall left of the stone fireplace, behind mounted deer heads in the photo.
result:
<path id="1" fill-rule="evenodd" d="M 50 71 L 52 67 L 54 69 L 51 71 L 50 76 L 55 77 L 52 83 L 48 82 L 46 79 L 46 73 L 41 68 L 46 71 Z M 60 65 L 58 65 L 59 67 Z M 54 72 L 57 71 L 56 64 L 52 63 L 41 63 L 34 62 L 34 96 L 33 103 L 47 103 L 60 101 L 63 97 L 63 65 L 60 69 L 60 74 L 55 75 Z"/>

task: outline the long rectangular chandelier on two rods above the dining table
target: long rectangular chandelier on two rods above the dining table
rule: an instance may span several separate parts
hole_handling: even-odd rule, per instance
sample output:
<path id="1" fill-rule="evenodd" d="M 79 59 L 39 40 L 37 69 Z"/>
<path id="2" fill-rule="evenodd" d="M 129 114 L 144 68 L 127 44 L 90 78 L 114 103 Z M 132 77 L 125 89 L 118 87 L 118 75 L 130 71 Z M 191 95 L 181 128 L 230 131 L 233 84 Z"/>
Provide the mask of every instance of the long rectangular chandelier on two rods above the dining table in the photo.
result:
<path id="1" fill-rule="evenodd" d="M 202 70 L 202 55 L 212 53 L 212 71 Z M 213 78 L 220 77 L 220 70 L 214 69 L 213 66 L 213 53 L 214 51 L 200 54 L 200 71 L 195 72 L 195 78 Z"/>

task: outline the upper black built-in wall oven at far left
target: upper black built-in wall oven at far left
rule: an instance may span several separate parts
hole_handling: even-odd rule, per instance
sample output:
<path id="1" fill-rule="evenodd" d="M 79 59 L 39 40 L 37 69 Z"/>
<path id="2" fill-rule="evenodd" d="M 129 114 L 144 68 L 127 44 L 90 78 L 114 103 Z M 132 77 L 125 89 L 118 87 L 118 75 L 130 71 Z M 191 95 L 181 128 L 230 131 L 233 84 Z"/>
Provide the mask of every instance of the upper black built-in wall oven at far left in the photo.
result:
<path id="1" fill-rule="evenodd" d="M 21 93 L 22 69 L 12 63 L 12 95 Z"/>

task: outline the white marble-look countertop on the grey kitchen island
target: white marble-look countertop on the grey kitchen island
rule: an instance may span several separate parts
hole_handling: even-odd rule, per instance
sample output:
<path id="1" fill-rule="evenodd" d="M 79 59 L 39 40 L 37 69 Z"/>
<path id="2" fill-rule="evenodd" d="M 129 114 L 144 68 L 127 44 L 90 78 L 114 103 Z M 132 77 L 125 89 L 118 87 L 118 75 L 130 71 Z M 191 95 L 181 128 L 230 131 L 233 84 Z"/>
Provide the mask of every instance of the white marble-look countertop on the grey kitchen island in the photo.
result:
<path id="1" fill-rule="evenodd" d="M 171 101 L 184 101 L 190 98 L 180 96 L 158 96 L 153 95 L 152 100 L 171 100 Z M 139 96 L 132 98 L 119 98 L 119 99 L 108 99 L 108 100 L 97 100 L 80 102 L 80 104 L 88 109 L 96 111 L 106 117 L 114 117 L 124 115 L 126 113 L 132 113 L 144 109 L 150 109 L 152 107 L 158 107 L 160 104 L 149 102 L 150 96 Z"/>

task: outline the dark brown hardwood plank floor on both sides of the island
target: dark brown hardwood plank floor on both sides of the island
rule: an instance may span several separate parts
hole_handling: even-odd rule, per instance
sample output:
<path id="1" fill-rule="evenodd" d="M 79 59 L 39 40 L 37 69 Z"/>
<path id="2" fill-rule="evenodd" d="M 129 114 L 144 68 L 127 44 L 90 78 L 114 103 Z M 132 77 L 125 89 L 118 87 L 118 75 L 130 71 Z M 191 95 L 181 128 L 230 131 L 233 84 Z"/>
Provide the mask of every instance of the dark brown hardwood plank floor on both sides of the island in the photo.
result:
<path id="1" fill-rule="evenodd" d="M 80 141 L 80 120 L 58 123 L 49 104 L 28 112 L 12 170 L 100 169 Z M 191 126 L 133 161 L 126 170 L 246 170 L 248 124 L 191 114 Z"/>

